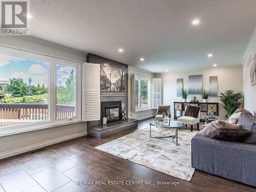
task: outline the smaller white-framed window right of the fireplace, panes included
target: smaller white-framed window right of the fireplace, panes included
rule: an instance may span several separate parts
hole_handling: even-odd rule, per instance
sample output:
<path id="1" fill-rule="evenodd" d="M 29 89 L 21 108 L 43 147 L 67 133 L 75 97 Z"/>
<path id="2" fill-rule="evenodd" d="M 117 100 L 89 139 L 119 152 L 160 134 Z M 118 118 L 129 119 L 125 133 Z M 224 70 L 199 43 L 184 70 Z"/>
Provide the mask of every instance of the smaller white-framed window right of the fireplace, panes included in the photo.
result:
<path id="1" fill-rule="evenodd" d="M 152 79 L 136 76 L 135 78 L 135 107 L 136 111 L 152 108 L 151 97 Z"/>

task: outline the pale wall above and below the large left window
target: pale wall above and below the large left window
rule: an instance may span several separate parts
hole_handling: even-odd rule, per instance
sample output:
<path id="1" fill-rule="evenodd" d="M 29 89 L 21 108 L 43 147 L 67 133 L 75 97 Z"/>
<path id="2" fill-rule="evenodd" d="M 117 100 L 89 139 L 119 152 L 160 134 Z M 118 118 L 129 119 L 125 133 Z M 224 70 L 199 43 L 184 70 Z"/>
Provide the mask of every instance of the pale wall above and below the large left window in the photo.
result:
<path id="1" fill-rule="evenodd" d="M 0 36 L 0 45 L 25 49 L 79 62 L 86 61 L 86 53 L 32 38 Z M 87 135 L 85 122 L 52 127 L 0 138 L 0 159 L 35 150 L 49 144 Z"/>

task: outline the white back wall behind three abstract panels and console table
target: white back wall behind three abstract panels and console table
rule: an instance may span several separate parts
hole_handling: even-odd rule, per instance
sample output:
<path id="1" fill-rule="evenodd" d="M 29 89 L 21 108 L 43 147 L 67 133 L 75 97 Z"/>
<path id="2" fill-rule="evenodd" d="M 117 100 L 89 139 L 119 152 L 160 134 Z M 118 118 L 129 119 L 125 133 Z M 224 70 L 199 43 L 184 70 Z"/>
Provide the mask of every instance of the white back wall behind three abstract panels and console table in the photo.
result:
<path id="1" fill-rule="evenodd" d="M 242 66 L 215 67 L 209 69 L 197 69 L 195 71 L 184 71 L 179 73 L 156 74 L 156 78 L 162 78 L 163 104 L 171 106 L 174 113 L 174 101 L 182 101 L 182 97 L 177 97 L 177 79 L 183 78 L 183 87 L 188 89 L 189 75 L 203 75 L 203 89 L 209 89 L 209 76 L 218 76 L 218 95 L 225 90 L 243 92 L 243 68 Z M 197 97 L 202 102 L 200 95 L 188 95 L 187 101 Z M 220 102 L 218 97 L 210 97 L 209 102 Z M 223 104 L 219 103 L 219 115 L 225 119 L 226 112 Z"/>

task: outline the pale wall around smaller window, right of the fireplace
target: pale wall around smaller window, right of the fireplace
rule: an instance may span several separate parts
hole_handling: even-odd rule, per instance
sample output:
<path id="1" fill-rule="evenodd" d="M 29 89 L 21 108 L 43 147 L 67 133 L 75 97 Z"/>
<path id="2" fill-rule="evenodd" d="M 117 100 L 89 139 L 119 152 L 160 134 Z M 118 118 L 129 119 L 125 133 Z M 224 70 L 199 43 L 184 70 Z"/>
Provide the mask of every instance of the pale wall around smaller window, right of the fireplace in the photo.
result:
<path id="1" fill-rule="evenodd" d="M 133 73 L 136 73 L 136 75 L 140 75 L 143 77 L 148 77 L 148 78 L 154 78 L 154 74 L 141 70 L 141 69 L 137 69 L 135 67 L 131 67 L 128 66 L 128 116 L 129 118 L 132 118 L 131 115 L 133 115 L 133 117 L 135 119 L 146 119 L 146 118 L 150 118 L 153 116 L 156 116 L 156 110 L 146 110 L 146 111 L 141 111 L 141 112 L 136 112 L 133 113 L 132 109 L 133 109 L 133 93 L 132 93 L 132 75 Z"/>

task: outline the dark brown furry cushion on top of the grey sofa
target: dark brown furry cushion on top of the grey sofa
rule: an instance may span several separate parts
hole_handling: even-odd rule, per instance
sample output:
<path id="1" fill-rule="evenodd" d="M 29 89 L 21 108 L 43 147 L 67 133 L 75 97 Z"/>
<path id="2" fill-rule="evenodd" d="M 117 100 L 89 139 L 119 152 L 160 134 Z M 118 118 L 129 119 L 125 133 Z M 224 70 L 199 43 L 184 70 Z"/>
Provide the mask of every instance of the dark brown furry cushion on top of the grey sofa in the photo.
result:
<path id="1" fill-rule="evenodd" d="M 251 135 L 251 131 L 239 129 L 217 129 L 209 134 L 212 139 L 218 139 L 222 141 L 244 142 L 248 136 Z"/>

